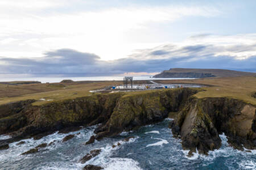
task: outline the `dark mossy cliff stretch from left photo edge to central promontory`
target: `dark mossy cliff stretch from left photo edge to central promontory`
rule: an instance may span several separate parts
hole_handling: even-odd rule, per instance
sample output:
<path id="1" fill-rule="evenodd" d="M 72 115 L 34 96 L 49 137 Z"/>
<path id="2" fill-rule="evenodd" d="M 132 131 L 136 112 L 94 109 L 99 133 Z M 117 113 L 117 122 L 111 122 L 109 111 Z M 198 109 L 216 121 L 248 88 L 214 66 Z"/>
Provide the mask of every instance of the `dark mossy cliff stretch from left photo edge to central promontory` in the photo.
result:
<path id="1" fill-rule="evenodd" d="M 68 127 L 105 123 L 122 95 L 93 95 L 40 106 L 31 105 L 34 100 L 2 105 L 0 134 L 10 133 L 13 138 L 5 142 L 13 142 L 31 137 L 40 139 Z"/>

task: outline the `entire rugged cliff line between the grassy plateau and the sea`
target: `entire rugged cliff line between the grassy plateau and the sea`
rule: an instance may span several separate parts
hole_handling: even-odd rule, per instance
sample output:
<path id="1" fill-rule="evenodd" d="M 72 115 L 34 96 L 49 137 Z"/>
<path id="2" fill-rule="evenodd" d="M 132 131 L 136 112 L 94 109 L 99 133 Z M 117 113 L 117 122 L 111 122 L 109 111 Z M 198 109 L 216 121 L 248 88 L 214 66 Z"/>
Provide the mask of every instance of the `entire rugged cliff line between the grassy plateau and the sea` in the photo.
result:
<path id="1" fill-rule="evenodd" d="M 193 97 L 192 88 L 114 93 L 80 97 L 40 106 L 34 100 L 0 106 L 0 134 L 13 138 L 40 138 L 71 126 L 101 124 L 96 139 L 162 121 L 170 112 L 177 118 L 170 126 L 184 149 L 207 154 L 221 146 L 218 134 L 225 133 L 230 145 L 240 150 L 255 148 L 255 106 L 228 98 Z"/>

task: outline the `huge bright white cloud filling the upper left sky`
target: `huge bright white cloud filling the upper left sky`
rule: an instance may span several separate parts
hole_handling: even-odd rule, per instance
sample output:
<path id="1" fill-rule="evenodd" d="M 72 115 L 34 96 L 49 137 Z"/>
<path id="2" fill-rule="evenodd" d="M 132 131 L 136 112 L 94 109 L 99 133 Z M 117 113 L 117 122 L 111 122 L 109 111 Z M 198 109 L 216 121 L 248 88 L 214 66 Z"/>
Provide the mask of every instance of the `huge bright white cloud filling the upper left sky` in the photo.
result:
<path id="1" fill-rule="evenodd" d="M 27 57 L 34 57 L 49 49 L 69 48 L 97 53 L 102 59 L 117 59 L 127 56 L 134 48 L 160 44 L 155 39 L 162 35 L 151 30 L 159 24 L 222 14 L 212 5 L 142 6 L 134 3 L 98 8 L 98 2 L 90 3 L 94 6 L 89 8 L 85 1 L 0 1 L 0 41 L 18 39 L 0 44 L 0 56 L 22 57 L 30 52 Z M 84 51 L 85 46 L 87 51 Z"/>

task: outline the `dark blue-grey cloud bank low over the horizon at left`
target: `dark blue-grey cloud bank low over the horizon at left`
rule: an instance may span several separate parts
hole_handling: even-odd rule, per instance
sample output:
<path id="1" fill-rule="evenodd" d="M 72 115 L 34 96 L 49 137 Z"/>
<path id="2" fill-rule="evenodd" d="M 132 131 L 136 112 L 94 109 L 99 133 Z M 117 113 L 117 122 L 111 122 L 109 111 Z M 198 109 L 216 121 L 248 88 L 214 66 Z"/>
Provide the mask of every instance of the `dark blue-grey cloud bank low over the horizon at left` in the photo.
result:
<path id="1" fill-rule="evenodd" d="M 0 58 L 0 72 L 11 74 L 86 74 L 97 67 L 100 57 L 72 49 L 46 52 L 38 58 Z"/>

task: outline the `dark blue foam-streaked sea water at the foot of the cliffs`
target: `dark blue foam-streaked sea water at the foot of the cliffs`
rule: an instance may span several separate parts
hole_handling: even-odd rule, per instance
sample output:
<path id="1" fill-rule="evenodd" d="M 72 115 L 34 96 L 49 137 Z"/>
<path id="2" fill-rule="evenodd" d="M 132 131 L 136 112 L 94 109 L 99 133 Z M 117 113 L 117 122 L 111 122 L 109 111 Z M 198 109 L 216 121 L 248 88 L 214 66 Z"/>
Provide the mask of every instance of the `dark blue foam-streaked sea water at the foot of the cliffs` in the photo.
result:
<path id="1" fill-rule="evenodd" d="M 168 119 L 158 124 L 143 126 L 137 131 L 122 133 L 115 138 L 106 138 L 92 145 L 82 145 L 86 142 L 93 129 L 85 128 L 78 132 L 75 138 L 61 142 L 67 134 L 52 134 L 34 141 L 16 146 L 12 143 L 8 150 L 0 151 L 0 169 L 81 169 L 86 164 L 100 165 L 104 169 L 256 169 L 256 151 L 241 152 L 228 146 L 225 135 L 220 135 L 222 147 L 209 152 L 209 156 L 195 154 L 187 158 L 187 151 L 181 148 L 180 140 L 172 138 L 171 130 L 167 128 Z M 69 133 L 77 134 L 78 132 Z M 129 136 L 136 138 L 129 142 L 122 139 Z M 1 137 L 0 137 L 1 138 Z M 3 136 L 2 136 L 3 138 Z M 55 145 L 42 148 L 40 152 L 31 155 L 20 155 L 40 143 L 54 141 Z M 112 148 L 113 144 L 121 146 Z M 90 150 L 101 148 L 100 155 L 80 164 L 79 159 Z"/>

